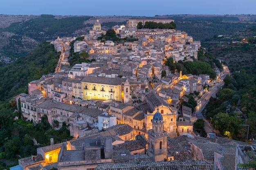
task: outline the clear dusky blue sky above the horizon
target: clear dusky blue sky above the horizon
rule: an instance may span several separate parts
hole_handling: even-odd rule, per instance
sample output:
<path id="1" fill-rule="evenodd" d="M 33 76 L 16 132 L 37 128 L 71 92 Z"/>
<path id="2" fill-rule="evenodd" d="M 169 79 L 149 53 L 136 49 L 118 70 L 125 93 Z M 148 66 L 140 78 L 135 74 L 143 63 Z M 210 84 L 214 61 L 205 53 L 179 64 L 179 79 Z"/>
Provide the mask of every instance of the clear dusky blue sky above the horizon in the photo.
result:
<path id="1" fill-rule="evenodd" d="M 91 16 L 256 14 L 256 0 L 0 0 L 0 14 Z"/>

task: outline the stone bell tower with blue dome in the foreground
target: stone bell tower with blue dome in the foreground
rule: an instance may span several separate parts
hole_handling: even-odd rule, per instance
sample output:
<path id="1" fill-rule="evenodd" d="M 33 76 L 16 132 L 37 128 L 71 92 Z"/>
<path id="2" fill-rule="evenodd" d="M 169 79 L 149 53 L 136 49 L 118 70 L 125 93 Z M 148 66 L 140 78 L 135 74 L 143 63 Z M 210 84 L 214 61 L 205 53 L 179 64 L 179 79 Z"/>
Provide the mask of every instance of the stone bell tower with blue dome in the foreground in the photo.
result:
<path id="1" fill-rule="evenodd" d="M 163 116 L 159 108 L 155 113 L 152 122 L 152 129 L 148 130 L 148 156 L 151 161 L 163 161 L 167 159 L 167 137 L 164 130 Z"/>

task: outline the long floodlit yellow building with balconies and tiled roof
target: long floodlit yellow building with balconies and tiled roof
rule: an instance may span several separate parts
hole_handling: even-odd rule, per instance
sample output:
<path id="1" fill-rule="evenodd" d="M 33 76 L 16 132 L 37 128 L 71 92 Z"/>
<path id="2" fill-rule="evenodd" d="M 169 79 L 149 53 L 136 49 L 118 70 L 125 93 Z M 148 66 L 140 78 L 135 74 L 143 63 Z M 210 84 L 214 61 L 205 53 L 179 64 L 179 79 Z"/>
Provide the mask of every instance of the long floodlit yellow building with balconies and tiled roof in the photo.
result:
<path id="1" fill-rule="evenodd" d="M 126 82 L 126 79 L 122 78 L 84 77 L 81 79 L 83 99 L 114 99 L 123 102 L 124 82 Z"/>

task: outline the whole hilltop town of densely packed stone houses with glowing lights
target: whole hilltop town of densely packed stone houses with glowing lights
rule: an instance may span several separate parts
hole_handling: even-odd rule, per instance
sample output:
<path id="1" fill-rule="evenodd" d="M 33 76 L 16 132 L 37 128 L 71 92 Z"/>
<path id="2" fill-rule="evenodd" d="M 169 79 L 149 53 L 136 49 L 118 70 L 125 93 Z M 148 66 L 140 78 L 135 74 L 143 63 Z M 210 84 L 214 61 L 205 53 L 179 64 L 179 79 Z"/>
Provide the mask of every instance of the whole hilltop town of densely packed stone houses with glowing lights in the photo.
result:
<path id="1" fill-rule="evenodd" d="M 101 41 L 107 31 L 95 20 L 82 40 L 58 38 L 51 43 L 61 55 L 55 73 L 29 82 L 29 93 L 16 96 L 24 119 L 45 117 L 55 129 L 69 125 L 73 140 L 38 148 L 37 155 L 19 159 L 22 170 L 68 169 L 236 169 L 250 158 L 254 145 L 193 132 L 197 117 L 182 106 L 191 93 L 201 104 L 210 75 L 171 73 L 165 63 L 198 60 L 200 42 L 176 29 L 137 29 L 141 22 L 172 19 L 130 19 L 113 26 L 124 43 Z M 74 53 L 88 53 L 94 62 L 74 64 Z M 226 73 L 216 70 L 217 78 Z M 200 101 L 200 102 L 199 102 Z M 205 101 L 206 102 L 206 101 Z M 59 122 L 59 126 L 56 126 Z"/>

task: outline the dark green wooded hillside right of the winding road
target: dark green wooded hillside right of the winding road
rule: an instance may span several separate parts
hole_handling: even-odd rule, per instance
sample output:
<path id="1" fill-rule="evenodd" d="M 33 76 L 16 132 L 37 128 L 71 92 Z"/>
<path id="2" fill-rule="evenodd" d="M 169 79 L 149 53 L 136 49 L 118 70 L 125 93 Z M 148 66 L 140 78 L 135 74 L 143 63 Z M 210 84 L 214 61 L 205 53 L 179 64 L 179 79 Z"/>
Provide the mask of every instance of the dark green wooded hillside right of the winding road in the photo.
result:
<path id="1" fill-rule="evenodd" d="M 207 43 L 209 53 L 227 64 L 232 75 L 225 77 L 217 98 L 209 100 L 206 116 L 222 135 L 237 140 L 245 140 L 247 134 L 247 126 L 241 124 L 249 125 L 249 139 L 256 136 L 256 46 L 248 42 L 254 40 L 251 36 L 256 36 L 256 27 L 215 36 Z"/>

